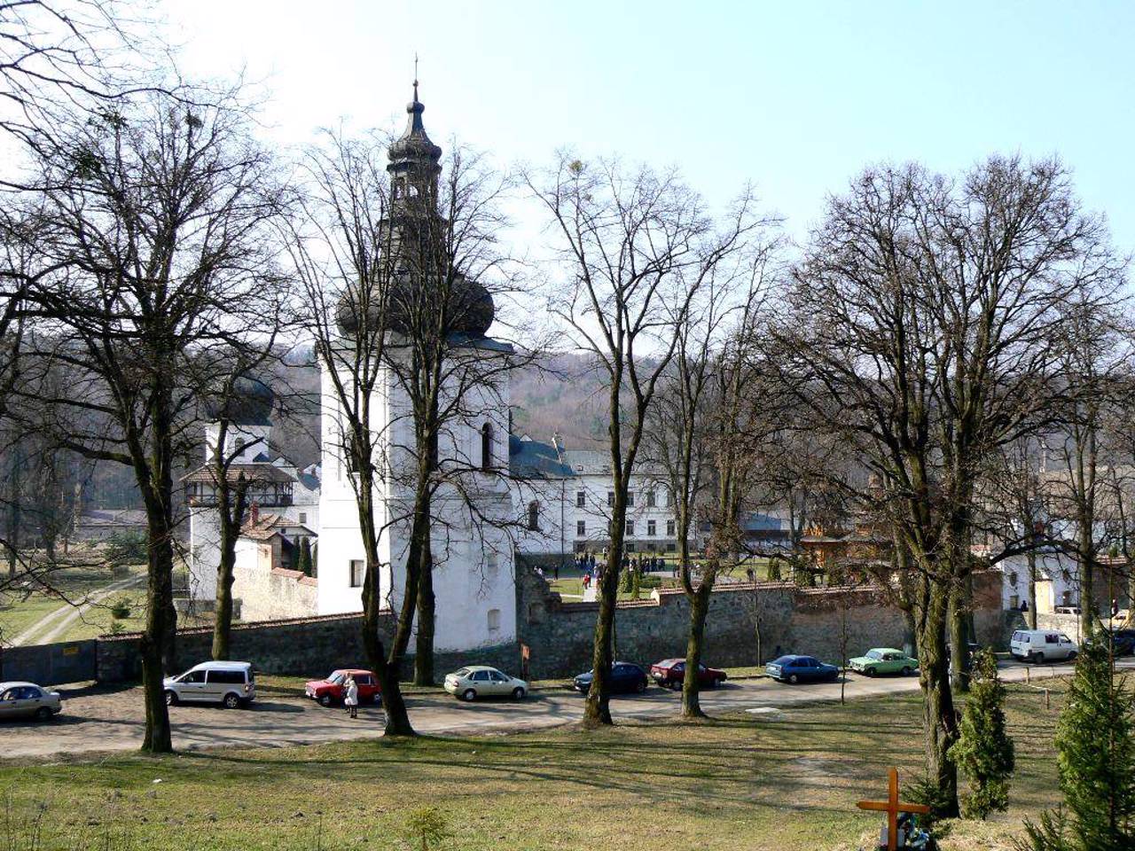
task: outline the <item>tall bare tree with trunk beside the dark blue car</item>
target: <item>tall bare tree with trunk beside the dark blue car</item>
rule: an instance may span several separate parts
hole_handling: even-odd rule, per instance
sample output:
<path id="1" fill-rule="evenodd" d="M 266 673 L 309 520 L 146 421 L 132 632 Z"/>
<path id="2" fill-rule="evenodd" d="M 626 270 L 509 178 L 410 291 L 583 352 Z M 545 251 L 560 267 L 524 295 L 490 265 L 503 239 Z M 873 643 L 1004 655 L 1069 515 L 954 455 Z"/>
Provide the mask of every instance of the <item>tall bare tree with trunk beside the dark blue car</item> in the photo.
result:
<path id="1" fill-rule="evenodd" d="M 607 382 L 607 438 L 614 500 L 611 546 L 599 581 L 594 677 L 585 724 L 611 724 L 609 679 L 628 492 L 646 416 L 678 347 L 676 328 L 690 300 L 753 227 L 748 209 L 732 211 L 720 231 L 701 199 L 673 171 L 629 170 L 617 162 L 586 166 L 561 155 L 526 183 L 547 209 L 561 245 L 565 295 L 550 311 L 595 355 Z"/>

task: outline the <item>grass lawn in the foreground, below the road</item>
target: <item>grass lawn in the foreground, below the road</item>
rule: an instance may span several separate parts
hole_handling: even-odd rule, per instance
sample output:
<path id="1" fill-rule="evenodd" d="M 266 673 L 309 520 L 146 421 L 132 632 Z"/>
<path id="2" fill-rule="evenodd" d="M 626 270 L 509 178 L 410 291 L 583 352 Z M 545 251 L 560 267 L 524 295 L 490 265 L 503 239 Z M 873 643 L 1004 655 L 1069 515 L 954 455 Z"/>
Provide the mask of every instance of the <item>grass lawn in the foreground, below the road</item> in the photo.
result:
<path id="1" fill-rule="evenodd" d="M 948 826 L 945 851 L 1008 849 L 1020 817 L 1054 802 L 1062 684 L 1050 685 L 1052 710 L 1008 686 L 1011 810 Z M 903 782 L 920 772 L 917 696 L 792 707 L 779 721 L 2 765 L 17 818 L 0 840 L 31 848 L 12 834 L 42 803 L 42 851 L 396 849 L 407 816 L 434 804 L 455 834 L 445 849 L 850 851 L 878 824 L 855 801 L 883 795 L 891 765 Z"/>

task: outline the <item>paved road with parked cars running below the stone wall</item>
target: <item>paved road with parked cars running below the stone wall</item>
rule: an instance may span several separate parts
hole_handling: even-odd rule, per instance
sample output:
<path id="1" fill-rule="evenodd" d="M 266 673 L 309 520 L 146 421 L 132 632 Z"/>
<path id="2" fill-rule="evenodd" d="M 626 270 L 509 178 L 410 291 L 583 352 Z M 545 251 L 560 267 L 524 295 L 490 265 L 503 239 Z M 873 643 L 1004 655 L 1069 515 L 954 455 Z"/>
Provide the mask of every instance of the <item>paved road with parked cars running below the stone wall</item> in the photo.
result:
<path id="1" fill-rule="evenodd" d="M 1135 667 L 1135 660 L 1124 667 Z M 1070 671 L 1069 665 L 1032 666 L 1032 677 L 1042 679 Z M 1025 679 L 1025 666 L 1003 665 L 1007 681 Z M 847 694 L 869 699 L 881 694 L 914 691 L 917 677 L 868 680 L 850 675 Z M 816 700 L 838 700 L 839 683 L 783 685 L 770 680 L 741 680 L 704 692 L 703 706 L 711 713 L 784 713 L 790 721 L 793 706 Z M 582 699 L 566 690 L 536 692 L 521 702 L 484 701 L 462 703 L 445 694 L 412 697 L 409 700 L 414 727 L 422 733 L 472 734 L 536 730 L 578 722 Z M 679 696 L 651 688 L 645 694 L 613 701 L 616 719 L 672 717 Z M 225 710 L 212 707 L 178 706 L 170 709 L 174 747 L 184 750 L 213 747 L 269 747 L 313 744 L 381 735 L 381 710 L 362 707 L 358 721 L 342 709 L 323 709 L 302 698 L 262 696 L 251 709 Z M 61 753 L 134 750 L 142 741 L 144 714 L 138 689 L 117 692 L 78 692 L 67 697 L 64 714 L 48 724 L 8 722 L 0 725 L 0 753 L 8 759 L 44 759 Z"/>

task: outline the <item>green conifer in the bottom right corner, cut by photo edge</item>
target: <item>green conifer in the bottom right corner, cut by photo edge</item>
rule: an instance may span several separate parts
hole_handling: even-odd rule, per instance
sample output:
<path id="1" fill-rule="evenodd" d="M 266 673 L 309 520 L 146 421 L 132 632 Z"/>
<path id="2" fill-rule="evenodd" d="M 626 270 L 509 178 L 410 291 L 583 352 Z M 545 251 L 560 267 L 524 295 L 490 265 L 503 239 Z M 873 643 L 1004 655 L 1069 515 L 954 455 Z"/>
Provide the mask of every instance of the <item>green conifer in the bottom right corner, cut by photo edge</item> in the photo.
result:
<path id="1" fill-rule="evenodd" d="M 1107 644 L 1076 663 L 1056 745 L 1063 811 L 1025 823 L 1029 851 L 1129 851 L 1135 848 L 1135 710 Z"/>

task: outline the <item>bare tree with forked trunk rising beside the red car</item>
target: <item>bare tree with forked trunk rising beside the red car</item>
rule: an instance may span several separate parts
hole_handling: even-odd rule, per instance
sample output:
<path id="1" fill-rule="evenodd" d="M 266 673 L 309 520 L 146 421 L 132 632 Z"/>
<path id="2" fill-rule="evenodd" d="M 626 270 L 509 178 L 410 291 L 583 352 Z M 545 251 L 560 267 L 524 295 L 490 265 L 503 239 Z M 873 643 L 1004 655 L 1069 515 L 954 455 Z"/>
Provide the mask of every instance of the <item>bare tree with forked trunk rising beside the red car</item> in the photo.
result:
<path id="1" fill-rule="evenodd" d="M 325 435 L 335 441 L 355 497 L 365 573 L 362 638 L 382 690 L 387 735 L 413 735 L 398 682 L 418 600 L 417 564 L 407 561 L 389 644 L 380 633 L 384 597 L 382 482 L 393 422 L 386 348 L 390 298 L 400 281 L 398 220 L 381 151 L 388 140 L 325 134 L 303 162 L 302 194 L 289 221 L 288 252 L 311 305 L 308 320 L 323 374 Z M 323 471 L 325 481 L 331 475 Z M 326 487 L 326 485 L 325 485 Z"/>

